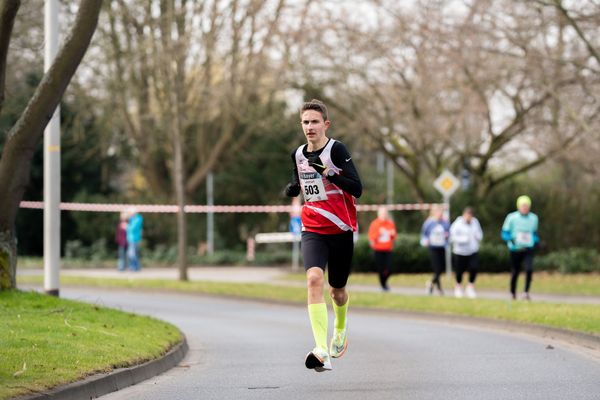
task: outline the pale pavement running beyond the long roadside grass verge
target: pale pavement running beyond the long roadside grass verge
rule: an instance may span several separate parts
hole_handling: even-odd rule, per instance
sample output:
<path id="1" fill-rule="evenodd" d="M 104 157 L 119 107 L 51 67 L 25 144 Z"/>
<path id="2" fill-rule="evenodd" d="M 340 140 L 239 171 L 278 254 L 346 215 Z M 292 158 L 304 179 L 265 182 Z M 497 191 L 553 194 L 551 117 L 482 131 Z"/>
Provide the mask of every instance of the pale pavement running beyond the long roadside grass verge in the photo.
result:
<path id="1" fill-rule="evenodd" d="M 286 280 L 285 276 L 290 273 L 289 268 L 274 267 L 190 267 L 188 277 L 191 281 L 232 282 L 232 283 L 270 283 L 281 286 L 303 287 L 303 282 Z M 18 275 L 40 276 L 42 269 L 19 269 Z M 62 276 L 81 276 L 88 278 L 112 278 L 112 279 L 178 279 L 179 272 L 176 268 L 145 268 L 140 272 L 124 271 L 106 268 L 86 269 L 63 269 Z M 359 292 L 380 293 L 381 289 L 375 285 L 352 285 L 352 278 L 348 290 Z M 415 287 L 392 287 L 388 293 L 408 296 L 427 296 L 425 288 Z M 452 297 L 452 291 L 447 290 L 446 295 Z M 479 298 L 508 300 L 508 292 L 500 291 L 478 291 Z M 599 296 L 571 296 L 560 294 L 532 293 L 534 301 L 550 303 L 569 304 L 596 304 L 600 305 Z"/>

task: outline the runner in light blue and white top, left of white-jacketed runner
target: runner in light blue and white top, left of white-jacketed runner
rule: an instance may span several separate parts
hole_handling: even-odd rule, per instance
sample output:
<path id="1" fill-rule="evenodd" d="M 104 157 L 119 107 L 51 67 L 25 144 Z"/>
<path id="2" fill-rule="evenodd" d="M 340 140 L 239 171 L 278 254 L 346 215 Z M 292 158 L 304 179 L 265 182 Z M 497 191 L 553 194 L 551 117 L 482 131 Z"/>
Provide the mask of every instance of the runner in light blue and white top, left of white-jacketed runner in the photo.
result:
<path id="1" fill-rule="evenodd" d="M 446 246 L 450 235 L 450 223 L 444 218 L 444 209 L 436 204 L 429 213 L 429 218 L 425 220 L 421 228 L 421 246 L 429 249 L 431 267 L 433 269 L 433 278 L 427 282 L 427 293 L 433 294 L 434 285 L 437 287 L 440 295 L 444 294 L 440 275 L 444 271 L 446 264 Z"/>

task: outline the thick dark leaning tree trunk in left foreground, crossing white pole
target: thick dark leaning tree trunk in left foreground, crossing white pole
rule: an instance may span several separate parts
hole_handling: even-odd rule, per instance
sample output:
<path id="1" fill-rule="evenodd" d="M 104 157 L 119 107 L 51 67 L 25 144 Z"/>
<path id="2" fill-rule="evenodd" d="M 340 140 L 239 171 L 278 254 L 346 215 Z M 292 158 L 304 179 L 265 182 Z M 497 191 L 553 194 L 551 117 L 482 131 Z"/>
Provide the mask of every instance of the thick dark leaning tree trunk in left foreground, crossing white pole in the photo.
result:
<path id="1" fill-rule="evenodd" d="M 19 1 L 5 1 L 0 8 L 0 71 L 5 71 L 8 43 L 20 6 Z M 44 75 L 19 120 L 8 132 L 0 158 L 0 289 L 14 288 L 16 281 L 17 244 L 15 219 L 25 187 L 34 150 L 77 66 L 85 54 L 96 29 L 101 0 L 82 1 L 69 36 L 54 63 Z M 2 82 L 4 92 L 4 82 Z"/>

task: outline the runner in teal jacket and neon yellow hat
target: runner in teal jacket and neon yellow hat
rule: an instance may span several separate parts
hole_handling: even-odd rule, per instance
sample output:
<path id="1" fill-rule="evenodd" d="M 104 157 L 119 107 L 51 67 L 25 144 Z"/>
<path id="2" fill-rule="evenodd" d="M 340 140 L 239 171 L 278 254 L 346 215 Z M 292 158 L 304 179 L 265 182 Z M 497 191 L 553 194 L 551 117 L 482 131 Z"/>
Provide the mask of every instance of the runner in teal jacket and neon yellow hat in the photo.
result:
<path id="1" fill-rule="evenodd" d="M 531 300 L 529 289 L 533 276 L 533 254 L 540 238 L 538 236 L 538 217 L 530 209 L 531 199 L 528 196 L 520 196 L 517 199 L 517 211 L 508 214 L 502 225 L 502 240 L 508 245 L 512 264 L 510 293 L 513 299 L 517 298 L 517 280 L 524 265 L 525 293 L 523 298 Z"/>

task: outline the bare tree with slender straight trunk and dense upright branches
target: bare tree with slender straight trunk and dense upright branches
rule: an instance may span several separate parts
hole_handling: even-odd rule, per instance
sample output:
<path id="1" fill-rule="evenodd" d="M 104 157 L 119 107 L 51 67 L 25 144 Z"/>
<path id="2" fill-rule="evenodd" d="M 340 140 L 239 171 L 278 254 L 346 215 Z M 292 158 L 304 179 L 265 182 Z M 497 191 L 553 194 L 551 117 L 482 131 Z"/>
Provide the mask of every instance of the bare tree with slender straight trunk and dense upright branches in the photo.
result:
<path id="1" fill-rule="evenodd" d="M 277 117 L 268 111 L 280 101 L 274 55 L 285 10 L 284 0 L 119 0 L 100 29 L 108 39 L 99 41 L 100 53 L 110 53 L 102 73 L 110 71 L 105 83 L 120 114 L 115 125 L 122 121 L 149 192 L 180 206 L 182 280 L 186 199 Z M 165 190 L 171 187 L 175 196 Z"/>

